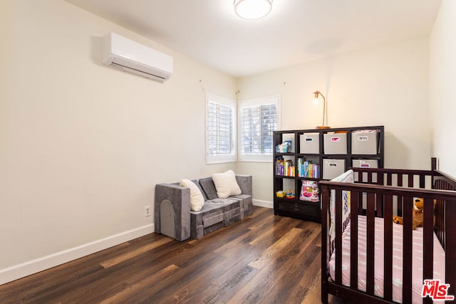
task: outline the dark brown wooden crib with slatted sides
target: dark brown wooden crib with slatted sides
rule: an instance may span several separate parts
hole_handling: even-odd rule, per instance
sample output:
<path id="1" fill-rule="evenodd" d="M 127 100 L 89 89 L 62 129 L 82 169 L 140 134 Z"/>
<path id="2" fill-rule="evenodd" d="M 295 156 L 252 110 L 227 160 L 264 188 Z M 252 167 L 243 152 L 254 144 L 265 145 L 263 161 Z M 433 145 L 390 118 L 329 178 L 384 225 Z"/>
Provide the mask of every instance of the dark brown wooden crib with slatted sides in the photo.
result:
<path id="1" fill-rule="evenodd" d="M 435 159 L 432 159 L 432 170 L 351 168 L 354 172 L 354 183 L 320 182 L 321 301 L 323 303 L 328 303 L 328 294 L 354 303 L 367 301 L 369 303 L 432 303 L 430 296 L 423 298 L 421 294 L 416 294 L 416 284 L 413 287 L 413 271 L 417 271 L 416 269 L 422 271 L 423 278 L 418 278 L 421 282 L 418 286 L 418 293 L 420 293 L 423 280 L 432 279 L 435 276 L 434 271 L 437 271 L 439 266 L 445 269 L 445 278 L 442 278 L 445 282 L 441 284 L 450 285 L 447 288 L 447 295 L 456 295 L 456 180 L 437 171 L 435 163 Z M 349 207 L 346 210 L 349 215 L 343 221 L 343 197 L 347 197 L 347 194 L 350 198 Z M 331 229 L 334 236 L 330 237 L 331 196 L 335 199 L 333 202 L 336 205 L 336 212 L 333 215 L 334 223 Z M 424 199 L 424 225 L 423 228 L 413 230 L 413 200 L 417 197 Z M 435 201 L 436 204 L 434 204 Z M 393 224 L 393 215 L 403 216 L 403 226 Z M 360 225 L 364 223 L 366 226 L 360 229 Z M 349 241 L 346 237 L 343 239 L 343 232 L 346 229 L 349 229 L 346 233 L 350 235 Z M 399 254 L 395 248 L 396 232 L 393 232 L 398 229 L 402 234 L 401 247 L 403 248 Z M 416 261 L 413 262 L 415 258 L 413 253 L 415 232 L 413 234 L 413 231 L 418 231 L 423 236 L 423 253 L 421 253 L 423 256 L 418 257 L 423 259 L 423 263 L 418 266 Z M 366 238 L 366 241 L 358 243 L 358 237 Z M 440 244 L 445 251 L 445 258 L 434 258 L 434 248 L 437 252 Z M 365 246 L 366 252 L 360 253 L 361 249 L 358 246 L 360 248 Z M 383 247 L 381 249 L 383 266 L 378 266 L 380 261 L 375 261 L 378 247 Z M 343 252 L 343 248 L 346 251 Z M 358 261 L 361 255 L 366 258 L 365 264 Z M 400 268 L 393 265 L 393 257 L 402 260 L 402 278 L 393 277 L 393 269 L 397 271 Z M 377 259 L 380 260 L 378 257 Z M 434 260 L 436 264 L 433 263 Z M 363 278 L 360 278 L 360 273 L 363 273 Z M 378 273 L 382 275 L 380 279 Z M 417 280 L 416 273 L 414 280 Z M 365 288 L 362 288 L 362 285 Z M 397 288 L 400 288 L 400 295 L 394 296 Z"/>

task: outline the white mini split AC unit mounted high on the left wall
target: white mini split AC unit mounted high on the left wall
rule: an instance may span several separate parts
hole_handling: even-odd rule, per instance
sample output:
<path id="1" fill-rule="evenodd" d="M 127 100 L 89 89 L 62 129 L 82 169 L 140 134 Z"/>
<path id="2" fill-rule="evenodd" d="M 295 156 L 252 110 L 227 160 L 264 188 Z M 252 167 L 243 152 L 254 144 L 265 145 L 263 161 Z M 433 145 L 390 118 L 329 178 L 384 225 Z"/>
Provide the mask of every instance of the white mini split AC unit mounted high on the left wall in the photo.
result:
<path id="1" fill-rule="evenodd" d="M 165 81 L 172 75 L 172 57 L 116 33 L 103 37 L 102 62 L 126 72 Z"/>

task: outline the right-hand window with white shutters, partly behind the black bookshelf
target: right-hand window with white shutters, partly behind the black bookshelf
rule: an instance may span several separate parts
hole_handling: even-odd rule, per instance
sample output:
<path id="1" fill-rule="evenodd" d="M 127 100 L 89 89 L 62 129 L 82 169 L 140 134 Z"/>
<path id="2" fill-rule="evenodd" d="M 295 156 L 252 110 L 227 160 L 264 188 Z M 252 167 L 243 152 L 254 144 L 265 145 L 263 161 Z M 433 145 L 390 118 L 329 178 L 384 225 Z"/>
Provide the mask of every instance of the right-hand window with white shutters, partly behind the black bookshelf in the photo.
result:
<path id="1" fill-rule="evenodd" d="M 239 101 L 239 161 L 272 162 L 279 103 L 279 96 Z"/>

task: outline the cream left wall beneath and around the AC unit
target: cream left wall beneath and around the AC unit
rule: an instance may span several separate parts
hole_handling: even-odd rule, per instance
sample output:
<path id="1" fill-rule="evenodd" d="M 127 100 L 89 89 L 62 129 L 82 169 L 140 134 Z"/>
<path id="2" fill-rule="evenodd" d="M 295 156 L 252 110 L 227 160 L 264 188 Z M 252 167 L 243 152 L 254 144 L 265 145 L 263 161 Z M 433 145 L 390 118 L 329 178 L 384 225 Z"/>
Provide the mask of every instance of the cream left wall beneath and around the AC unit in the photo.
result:
<path id="1" fill-rule="evenodd" d="M 236 167 L 204 158 L 203 89 L 235 99 L 231 76 L 65 1 L 0 12 L 0 283 L 147 234 L 155 184 Z M 110 31 L 174 57 L 172 78 L 101 65 Z"/>

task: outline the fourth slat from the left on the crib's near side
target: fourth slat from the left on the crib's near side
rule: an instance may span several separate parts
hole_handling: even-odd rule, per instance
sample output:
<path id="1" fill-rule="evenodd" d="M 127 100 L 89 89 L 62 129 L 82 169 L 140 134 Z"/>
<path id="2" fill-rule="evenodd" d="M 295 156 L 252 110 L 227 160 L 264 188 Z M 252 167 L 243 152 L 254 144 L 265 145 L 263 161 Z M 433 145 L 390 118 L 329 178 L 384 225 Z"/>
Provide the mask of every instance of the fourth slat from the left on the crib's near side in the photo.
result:
<path id="1" fill-rule="evenodd" d="M 383 250 L 384 264 L 383 264 L 383 297 L 387 301 L 393 300 L 393 196 L 385 195 L 385 221 L 383 222 Z"/>

